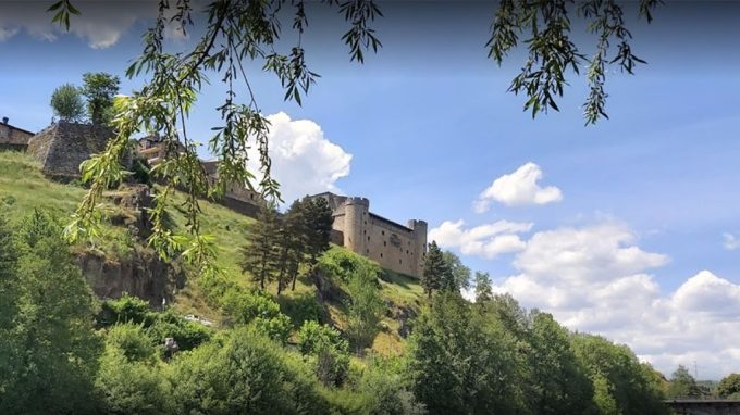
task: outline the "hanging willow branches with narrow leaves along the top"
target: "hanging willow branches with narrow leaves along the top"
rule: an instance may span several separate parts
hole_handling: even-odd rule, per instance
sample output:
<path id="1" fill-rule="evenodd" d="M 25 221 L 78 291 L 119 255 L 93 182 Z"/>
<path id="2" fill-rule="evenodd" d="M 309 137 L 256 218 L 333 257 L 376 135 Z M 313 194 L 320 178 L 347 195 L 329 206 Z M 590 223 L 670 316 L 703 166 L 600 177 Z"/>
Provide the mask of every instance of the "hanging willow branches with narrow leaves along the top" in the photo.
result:
<path id="1" fill-rule="evenodd" d="M 652 20 L 652 12 L 659 0 L 640 0 L 639 16 Z M 382 16 L 375 0 L 328 1 L 326 7 L 338 7 L 341 15 L 349 24 L 342 39 L 349 47 L 351 61 L 362 63 L 368 50 L 377 51 L 382 45 L 371 27 Z M 300 39 L 308 25 L 306 3 L 292 2 L 240 2 L 219 0 L 202 10 L 203 20 L 193 18 L 192 2 L 178 0 L 159 2 L 159 14 L 153 27 L 144 36 L 143 54 L 126 71 L 126 76 L 148 74 L 148 83 L 128 97 L 114 102 L 116 113 L 113 127 L 118 131 L 107 149 L 94 155 L 82 166 L 83 178 L 90 188 L 67 227 L 72 240 L 89 235 L 89 228 L 99 223 L 96 209 L 108 184 L 122 175 L 120 163 L 125 143 L 144 126 L 162 133 L 166 146 L 183 146 L 185 152 L 177 158 L 164 160 L 156 169 L 156 178 L 164 184 L 152 210 L 152 235 L 150 243 L 164 254 L 166 248 L 182 247 L 182 251 L 202 266 L 203 273 L 213 273 L 212 252 L 206 236 L 200 235 L 198 194 L 208 192 L 209 183 L 199 168 L 196 146 L 187 136 L 187 115 L 193 108 L 208 72 L 223 74 L 226 87 L 223 105 L 218 108 L 223 120 L 214 128 L 209 149 L 222 161 L 219 183 L 213 189 L 229 183 L 246 183 L 257 172 L 248 172 L 244 154 L 249 147 L 259 151 L 260 173 L 258 185 L 268 198 L 280 199 L 278 183 L 271 177 L 268 153 L 269 123 L 262 115 L 256 96 L 244 71 L 245 62 L 254 62 L 266 72 L 273 73 L 285 91 L 285 100 L 301 103 L 303 96 L 316 84 L 318 74 L 307 65 Z M 49 11 L 53 21 L 69 29 L 70 15 L 79 13 L 70 0 L 60 0 Z M 280 11 L 280 13 L 278 13 Z M 292 13 L 293 15 L 291 16 Z M 596 36 L 596 53 L 588 60 L 571 41 L 570 17 L 576 13 L 583 17 L 588 30 Z M 292 24 L 281 17 L 292 17 Z M 289 18 L 287 17 L 287 18 Z M 199 38 L 185 53 L 169 52 L 164 47 L 166 23 L 190 29 L 195 22 L 206 22 Z M 296 41 L 285 53 L 282 27 L 291 27 Z M 488 42 L 489 56 L 501 63 L 511 50 L 526 45 L 528 56 L 522 72 L 517 75 L 509 90 L 526 96 L 525 110 L 532 115 L 557 110 L 556 97 L 563 96 L 567 85 L 566 74 L 578 73 L 581 64 L 588 65 L 587 78 L 591 91 L 584 105 L 587 123 L 606 116 L 604 89 L 607 66 L 616 64 L 632 73 L 636 64 L 643 63 L 632 53 L 630 32 L 625 26 L 625 12 L 617 0 L 588 0 L 576 5 L 574 1 L 557 2 L 505 0 L 498 5 L 491 25 Z M 617 43 L 616 53 L 609 47 Z M 242 83 L 242 84 L 239 84 Z M 238 88 L 249 91 L 243 103 L 238 102 Z M 188 196 L 184 208 L 187 216 L 187 235 L 173 235 L 162 226 L 162 212 L 173 202 L 171 190 L 185 188 Z"/>

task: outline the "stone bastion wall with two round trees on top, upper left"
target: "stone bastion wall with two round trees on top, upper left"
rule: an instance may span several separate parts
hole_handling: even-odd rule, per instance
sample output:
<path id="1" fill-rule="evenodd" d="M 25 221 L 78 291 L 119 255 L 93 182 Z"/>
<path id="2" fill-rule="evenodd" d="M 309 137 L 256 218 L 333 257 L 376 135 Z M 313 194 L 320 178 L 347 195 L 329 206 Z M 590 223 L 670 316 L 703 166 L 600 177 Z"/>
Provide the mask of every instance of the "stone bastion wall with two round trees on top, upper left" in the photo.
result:
<path id="1" fill-rule="evenodd" d="M 79 164 L 102 152 L 112 136 L 107 127 L 59 121 L 33 136 L 27 151 L 45 175 L 71 179 L 79 177 Z"/>

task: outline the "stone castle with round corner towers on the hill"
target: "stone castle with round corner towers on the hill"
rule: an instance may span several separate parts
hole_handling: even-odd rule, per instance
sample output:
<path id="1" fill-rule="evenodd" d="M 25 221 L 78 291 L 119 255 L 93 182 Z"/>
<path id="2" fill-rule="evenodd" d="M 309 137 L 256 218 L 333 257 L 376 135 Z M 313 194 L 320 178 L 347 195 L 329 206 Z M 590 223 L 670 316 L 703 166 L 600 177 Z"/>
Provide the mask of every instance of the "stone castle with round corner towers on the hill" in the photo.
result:
<path id="1" fill-rule="evenodd" d="M 370 212 L 370 201 L 320 193 L 332 209 L 332 241 L 378 262 L 396 273 L 421 277 L 427 256 L 427 223 L 411 219 L 406 226 Z"/>

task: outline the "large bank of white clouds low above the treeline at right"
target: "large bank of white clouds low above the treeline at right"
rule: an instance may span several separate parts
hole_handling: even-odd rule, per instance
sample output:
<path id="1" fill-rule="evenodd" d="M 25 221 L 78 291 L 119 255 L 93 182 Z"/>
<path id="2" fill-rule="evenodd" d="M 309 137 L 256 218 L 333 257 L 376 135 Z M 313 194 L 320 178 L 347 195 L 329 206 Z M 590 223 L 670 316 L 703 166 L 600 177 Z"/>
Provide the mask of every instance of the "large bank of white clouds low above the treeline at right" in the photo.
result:
<path id="1" fill-rule="evenodd" d="M 664 293 L 651 272 L 669 259 L 637 243 L 616 223 L 536 232 L 494 290 L 626 343 L 666 375 L 694 361 L 701 378 L 740 372 L 740 286 L 701 271 Z"/>

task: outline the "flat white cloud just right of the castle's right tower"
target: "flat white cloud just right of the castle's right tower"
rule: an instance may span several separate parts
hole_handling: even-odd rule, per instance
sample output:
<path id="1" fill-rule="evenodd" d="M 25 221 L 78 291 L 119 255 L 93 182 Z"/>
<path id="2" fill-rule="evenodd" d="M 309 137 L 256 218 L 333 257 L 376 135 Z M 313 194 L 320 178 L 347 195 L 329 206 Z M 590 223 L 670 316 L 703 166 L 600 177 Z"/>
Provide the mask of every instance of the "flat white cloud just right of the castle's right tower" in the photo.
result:
<path id="1" fill-rule="evenodd" d="M 445 249 L 457 248 L 465 255 L 480 255 L 493 259 L 502 253 L 525 249 L 519 235 L 532 228 L 531 223 L 498 221 L 464 229 L 465 222 L 445 221 L 429 231 L 429 240 L 435 240 Z"/>

